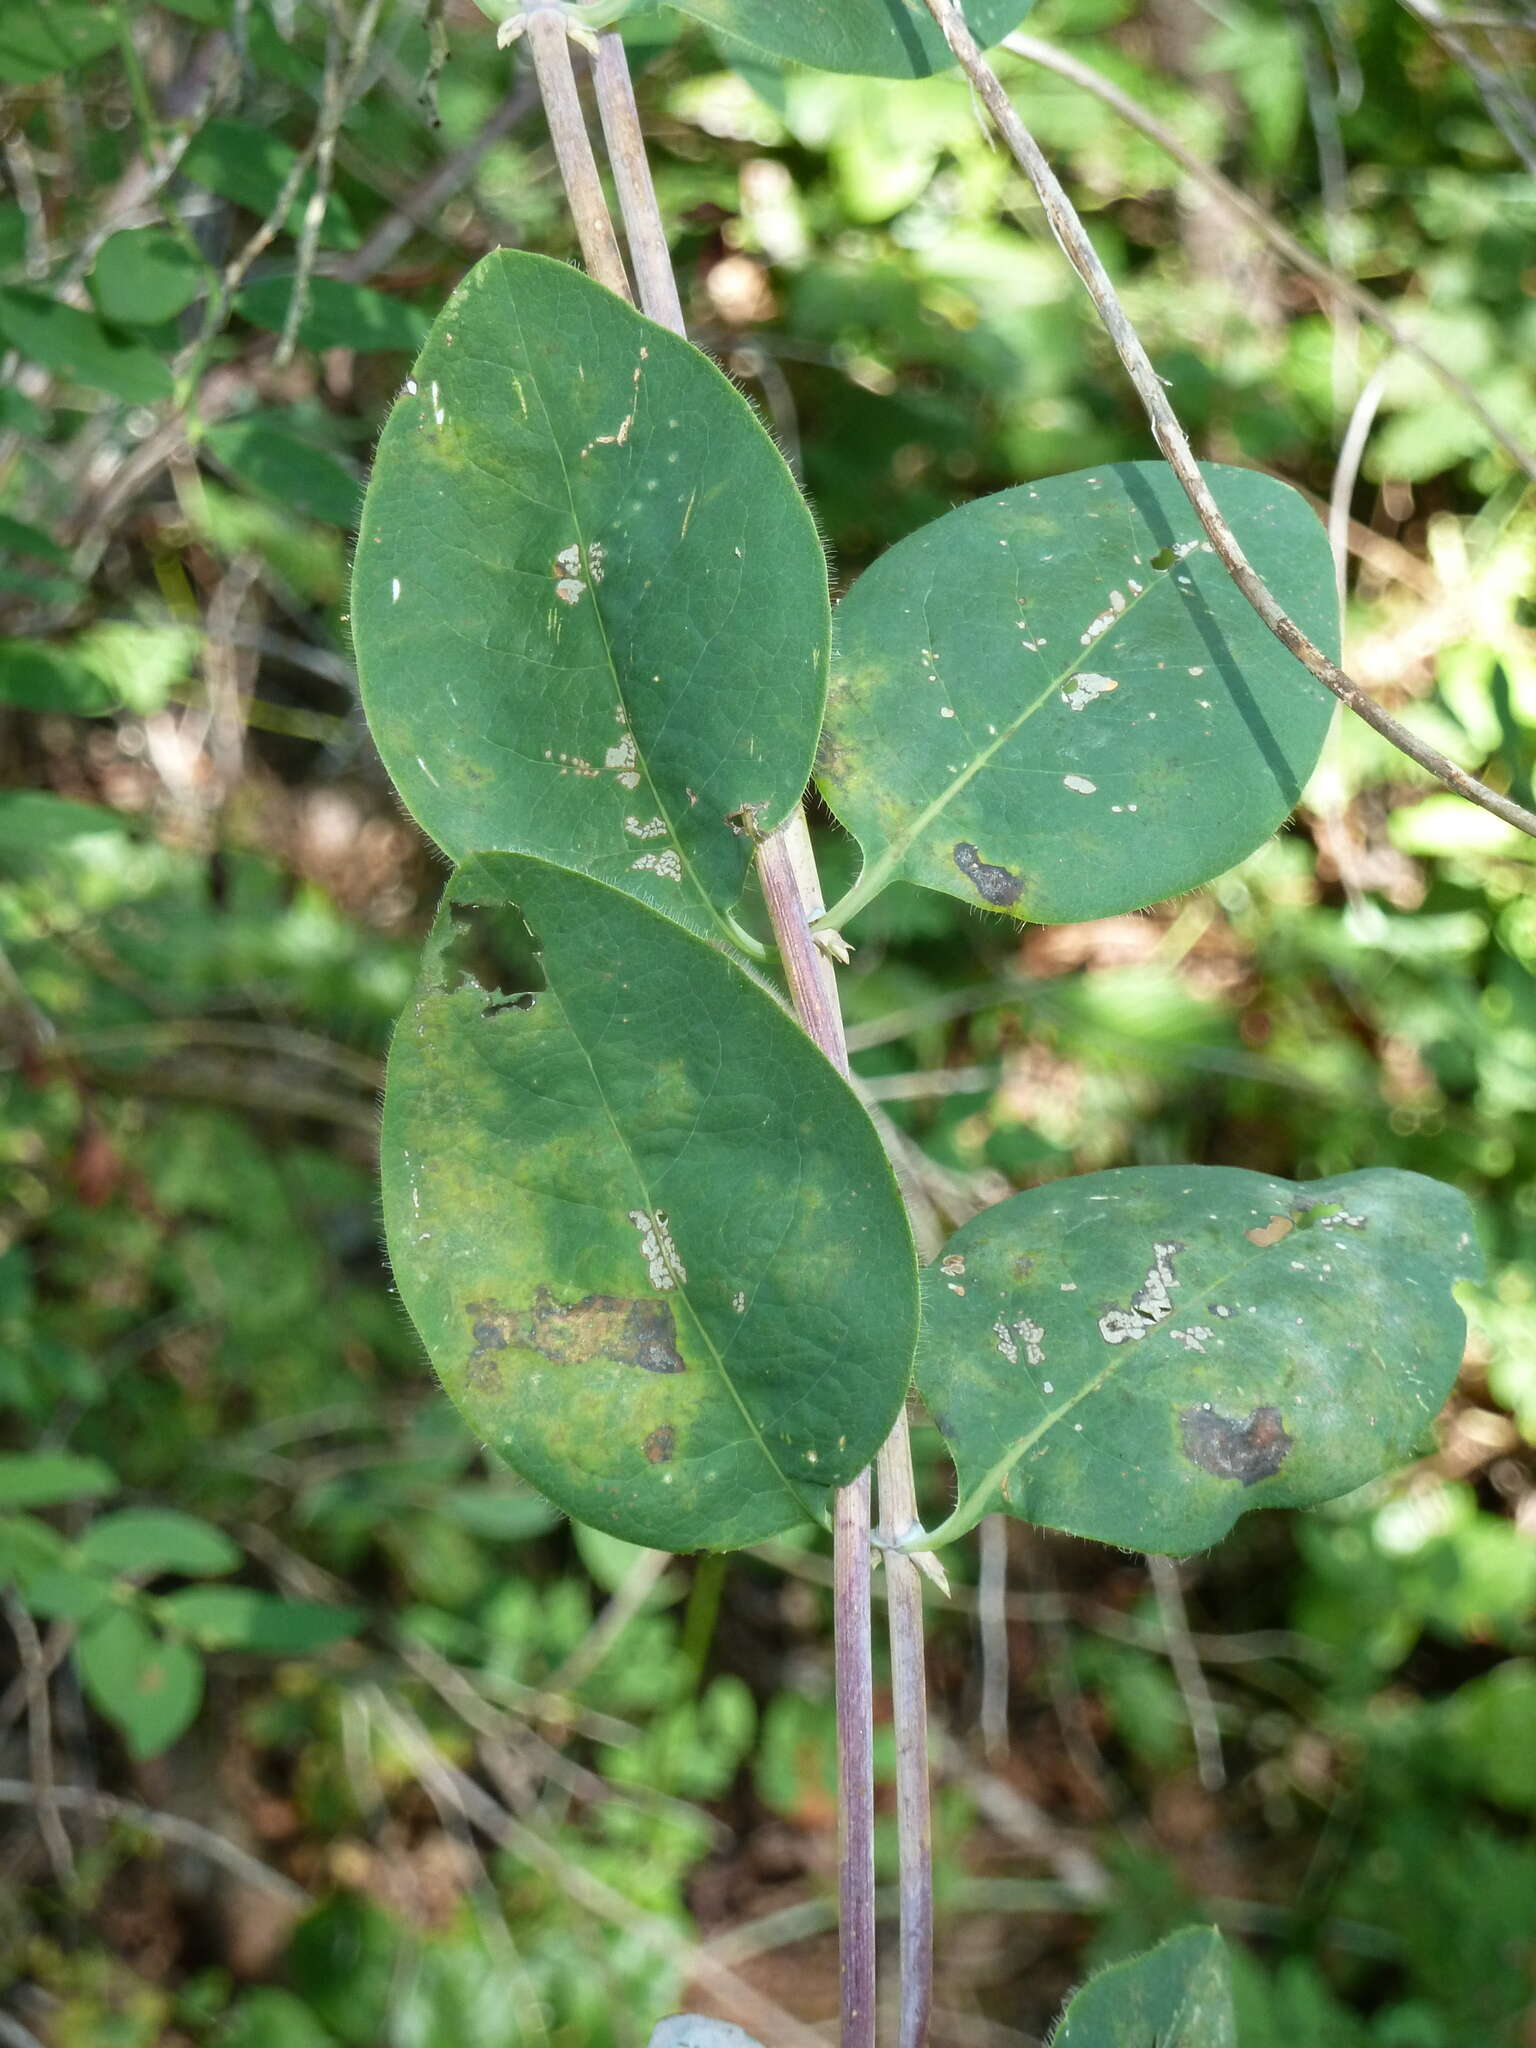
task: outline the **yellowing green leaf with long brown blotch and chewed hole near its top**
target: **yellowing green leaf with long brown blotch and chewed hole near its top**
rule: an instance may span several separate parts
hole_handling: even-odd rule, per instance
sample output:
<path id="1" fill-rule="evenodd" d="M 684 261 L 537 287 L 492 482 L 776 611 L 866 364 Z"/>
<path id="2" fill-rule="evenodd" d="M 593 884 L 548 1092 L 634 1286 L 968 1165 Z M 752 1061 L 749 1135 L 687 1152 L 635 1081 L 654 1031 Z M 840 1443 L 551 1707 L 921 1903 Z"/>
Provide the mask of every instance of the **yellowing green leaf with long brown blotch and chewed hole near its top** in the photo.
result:
<path id="1" fill-rule="evenodd" d="M 522 920 L 547 993 L 457 977 L 498 922 L 526 952 Z M 885 1440 L 915 1272 L 879 1139 L 764 987 L 631 897 L 518 856 L 455 877 L 389 1055 L 383 1186 L 444 1386 L 575 1520 L 756 1542 Z"/>

